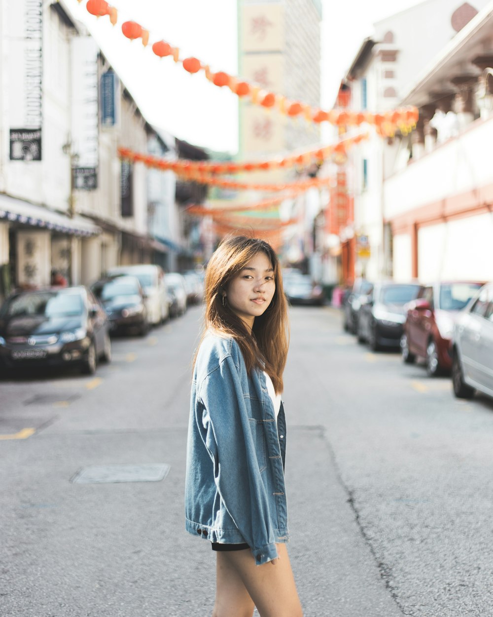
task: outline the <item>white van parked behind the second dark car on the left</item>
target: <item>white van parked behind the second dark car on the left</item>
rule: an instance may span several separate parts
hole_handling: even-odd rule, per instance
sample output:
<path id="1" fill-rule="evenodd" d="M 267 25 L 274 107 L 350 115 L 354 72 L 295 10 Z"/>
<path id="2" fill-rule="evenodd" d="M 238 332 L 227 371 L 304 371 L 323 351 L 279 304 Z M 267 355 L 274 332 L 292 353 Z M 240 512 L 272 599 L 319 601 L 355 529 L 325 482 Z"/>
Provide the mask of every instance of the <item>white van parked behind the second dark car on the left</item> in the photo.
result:
<path id="1" fill-rule="evenodd" d="M 169 299 L 163 268 L 151 264 L 118 266 L 107 271 L 108 276 L 137 276 L 145 292 L 145 307 L 149 323 L 156 326 L 169 318 Z"/>

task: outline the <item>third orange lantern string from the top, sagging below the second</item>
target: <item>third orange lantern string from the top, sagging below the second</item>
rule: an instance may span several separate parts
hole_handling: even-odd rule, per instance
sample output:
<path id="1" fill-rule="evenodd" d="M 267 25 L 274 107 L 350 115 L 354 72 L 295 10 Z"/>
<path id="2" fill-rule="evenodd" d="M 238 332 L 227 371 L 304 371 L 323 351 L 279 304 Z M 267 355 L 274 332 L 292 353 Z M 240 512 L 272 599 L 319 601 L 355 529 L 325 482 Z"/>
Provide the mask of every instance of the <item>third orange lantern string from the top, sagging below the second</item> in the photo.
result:
<path id="1" fill-rule="evenodd" d="M 147 167 L 153 167 L 160 170 L 170 169 L 168 160 L 161 159 L 160 157 L 154 157 L 150 154 L 134 152 L 129 148 L 119 148 L 118 154 L 121 159 L 129 160 L 134 163 L 141 162 Z M 299 189 L 301 191 L 306 191 L 306 189 L 312 187 L 324 186 L 330 181 L 329 178 L 311 178 L 311 180 L 296 180 L 294 182 L 287 182 L 283 184 L 251 184 L 247 182 L 237 182 L 234 180 L 224 180 L 224 178 L 218 178 L 210 173 L 202 173 L 197 168 L 177 168 L 173 169 L 173 172 L 185 180 L 197 182 L 199 184 L 209 184 L 210 186 L 219 186 L 220 188 L 234 189 L 237 191 L 287 191 L 288 189 Z"/>

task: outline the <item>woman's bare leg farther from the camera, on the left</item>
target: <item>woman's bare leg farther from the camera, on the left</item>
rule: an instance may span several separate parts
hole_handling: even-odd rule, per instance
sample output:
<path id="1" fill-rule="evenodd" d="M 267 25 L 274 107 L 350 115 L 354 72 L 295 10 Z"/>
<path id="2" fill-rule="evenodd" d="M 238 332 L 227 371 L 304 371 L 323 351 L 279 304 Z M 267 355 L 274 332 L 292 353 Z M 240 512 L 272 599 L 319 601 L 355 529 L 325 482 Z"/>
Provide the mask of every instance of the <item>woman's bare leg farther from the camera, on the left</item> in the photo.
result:
<path id="1" fill-rule="evenodd" d="M 250 549 L 234 551 L 248 553 L 253 560 Z M 252 617 L 255 605 L 243 585 L 235 568 L 225 557 L 230 552 L 216 553 L 216 602 L 214 603 L 213 617 Z M 254 562 L 255 563 L 255 562 Z"/>

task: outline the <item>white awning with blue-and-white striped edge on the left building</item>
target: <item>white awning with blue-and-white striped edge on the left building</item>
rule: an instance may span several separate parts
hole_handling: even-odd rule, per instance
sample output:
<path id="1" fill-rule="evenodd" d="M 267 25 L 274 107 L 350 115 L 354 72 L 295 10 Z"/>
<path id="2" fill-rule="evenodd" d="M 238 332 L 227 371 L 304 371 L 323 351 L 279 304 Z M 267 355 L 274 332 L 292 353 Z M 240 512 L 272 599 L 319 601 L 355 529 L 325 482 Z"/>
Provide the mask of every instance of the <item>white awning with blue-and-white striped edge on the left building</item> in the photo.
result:
<path id="1" fill-rule="evenodd" d="M 23 199 L 0 194 L 0 221 L 20 223 L 72 236 L 96 236 L 100 228 L 86 218 L 68 217 L 42 205 L 31 204 Z"/>

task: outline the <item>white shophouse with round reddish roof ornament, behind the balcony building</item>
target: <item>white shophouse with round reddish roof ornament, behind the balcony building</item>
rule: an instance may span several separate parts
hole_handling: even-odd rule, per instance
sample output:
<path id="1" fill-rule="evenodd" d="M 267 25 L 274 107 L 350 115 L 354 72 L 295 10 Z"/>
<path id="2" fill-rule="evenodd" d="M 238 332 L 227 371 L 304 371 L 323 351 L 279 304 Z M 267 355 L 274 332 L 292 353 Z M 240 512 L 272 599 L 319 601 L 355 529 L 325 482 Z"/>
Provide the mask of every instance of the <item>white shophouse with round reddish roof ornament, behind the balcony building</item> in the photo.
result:
<path id="1" fill-rule="evenodd" d="M 447 44 L 453 46 L 453 41 L 461 39 L 463 30 L 486 4 L 487 0 L 428 0 L 375 23 L 373 36 L 363 41 L 346 73 L 344 81 L 351 95 L 348 106 L 380 113 L 413 104 L 413 97 L 407 96 L 410 84 Z M 404 141 L 411 139 L 416 137 L 405 137 Z M 399 136 L 383 139 L 372 132 L 370 139 L 349 155 L 346 167 L 348 189 L 354 196 L 354 222 L 344 229 L 341 242 L 351 244 L 355 259 L 346 280 L 355 275 L 375 280 L 393 273 L 399 278 L 417 274 L 416 268 L 393 271 L 393 247 L 397 254 L 404 251 L 404 240 L 397 238 L 393 245 L 390 219 L 409 193 L 427 190 L 420 183 L 401 183 L 398 196 L 395 191 L 384 191 L 385 179 L 405 157 L 401 144 Z M 399 230 L 402 226 L 396 228 Z"/>

